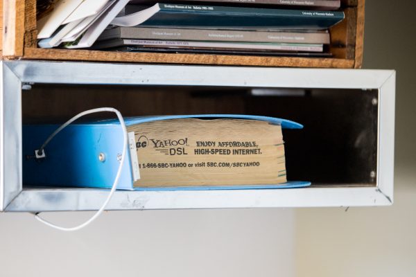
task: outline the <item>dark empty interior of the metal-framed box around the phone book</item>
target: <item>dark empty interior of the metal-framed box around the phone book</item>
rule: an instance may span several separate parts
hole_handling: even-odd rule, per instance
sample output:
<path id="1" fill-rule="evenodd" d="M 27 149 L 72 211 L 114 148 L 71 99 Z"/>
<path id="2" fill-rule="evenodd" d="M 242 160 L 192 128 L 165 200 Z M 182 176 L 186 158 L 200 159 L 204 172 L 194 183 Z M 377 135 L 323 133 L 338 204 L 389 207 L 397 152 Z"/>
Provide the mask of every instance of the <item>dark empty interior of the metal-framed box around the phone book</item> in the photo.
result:
<path id="1" fill-rule="evenodd" d="M 27 123 L 63 123 L 80 111 L 114 107 L 123 116 L 254 114 L 294 120 L 284 129 L 288 180 L 313 186 L 376 186 L 378 91 L 239 87 L 34 84 L 22 93 Z M 103 113 L 94 118 L 112 116 Z"/>

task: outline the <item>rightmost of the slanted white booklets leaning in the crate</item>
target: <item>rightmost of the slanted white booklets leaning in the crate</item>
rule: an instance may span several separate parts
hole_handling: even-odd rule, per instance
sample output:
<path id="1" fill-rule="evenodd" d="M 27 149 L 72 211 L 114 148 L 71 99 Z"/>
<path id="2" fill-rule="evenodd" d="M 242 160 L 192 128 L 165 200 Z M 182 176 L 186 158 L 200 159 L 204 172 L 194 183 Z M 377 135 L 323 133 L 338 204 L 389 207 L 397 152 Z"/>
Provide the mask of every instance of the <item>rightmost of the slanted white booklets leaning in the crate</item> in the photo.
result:
<path id="1" fill-rule="evenodd" d="M 76 44 L 65 45 L 65 48 L 87 48 L 92 46 L 103 30 L 111 23 L 111 21 L 119 15 L 124 6 L 130 0 L 119 0 L 114 3 L 108 10 L 106 10 L 101 17 L 99 17 L 92 26 L 83 34 L 80 41 Z"/>

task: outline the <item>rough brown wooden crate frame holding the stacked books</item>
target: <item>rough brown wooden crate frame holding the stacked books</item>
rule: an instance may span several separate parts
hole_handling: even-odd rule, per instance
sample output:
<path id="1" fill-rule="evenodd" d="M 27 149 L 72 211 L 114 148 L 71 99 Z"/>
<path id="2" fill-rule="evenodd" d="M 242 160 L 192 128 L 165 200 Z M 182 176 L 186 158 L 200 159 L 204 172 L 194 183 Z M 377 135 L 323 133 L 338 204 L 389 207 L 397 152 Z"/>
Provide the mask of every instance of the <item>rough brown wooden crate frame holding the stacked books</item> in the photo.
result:
<path id="1" fill-rule="evenodd" d="M 12 3 L 11 3 L 12 2 Z M 364 0 L 343 0 L 345 19 L 333 26 L 331 58 L 265 57 L 179 53 L 116 53 L 110 51 L 44 49 L 36 45 L 36 0 L 3 0 L 3 60 L 67 60 L 156 64 L 212 64 L 235 66 L 285 66 L 361 68 L 363 58 Z"/>

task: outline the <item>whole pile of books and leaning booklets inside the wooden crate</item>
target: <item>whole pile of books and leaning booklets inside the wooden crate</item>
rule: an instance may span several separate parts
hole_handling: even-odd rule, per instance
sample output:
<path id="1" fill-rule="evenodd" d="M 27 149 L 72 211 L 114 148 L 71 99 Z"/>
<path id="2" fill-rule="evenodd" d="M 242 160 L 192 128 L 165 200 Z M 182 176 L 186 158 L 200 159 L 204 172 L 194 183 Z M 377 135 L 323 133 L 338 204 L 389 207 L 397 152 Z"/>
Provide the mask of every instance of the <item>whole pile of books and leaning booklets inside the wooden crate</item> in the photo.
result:
<path id="1" fill-rule="evenodd" d="M 38 21 L 42 48 L 330 56 L 340 0 L 60 0 Z"/>

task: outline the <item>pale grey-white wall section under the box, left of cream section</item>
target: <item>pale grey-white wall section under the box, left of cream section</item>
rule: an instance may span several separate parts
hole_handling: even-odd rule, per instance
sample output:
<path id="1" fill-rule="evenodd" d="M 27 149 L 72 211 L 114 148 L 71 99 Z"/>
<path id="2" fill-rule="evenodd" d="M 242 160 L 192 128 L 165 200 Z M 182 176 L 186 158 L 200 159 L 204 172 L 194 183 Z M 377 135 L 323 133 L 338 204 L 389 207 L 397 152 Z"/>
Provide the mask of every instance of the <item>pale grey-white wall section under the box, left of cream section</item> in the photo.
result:
<path id="1" fill-rule="evenodd" d="M 0 213 L 0 276 L 293 276 L 293 233 L 290 209 L 108 212 L 74 233 Z"/>

